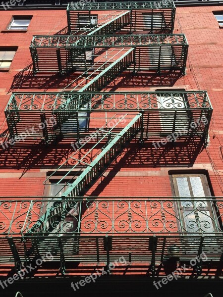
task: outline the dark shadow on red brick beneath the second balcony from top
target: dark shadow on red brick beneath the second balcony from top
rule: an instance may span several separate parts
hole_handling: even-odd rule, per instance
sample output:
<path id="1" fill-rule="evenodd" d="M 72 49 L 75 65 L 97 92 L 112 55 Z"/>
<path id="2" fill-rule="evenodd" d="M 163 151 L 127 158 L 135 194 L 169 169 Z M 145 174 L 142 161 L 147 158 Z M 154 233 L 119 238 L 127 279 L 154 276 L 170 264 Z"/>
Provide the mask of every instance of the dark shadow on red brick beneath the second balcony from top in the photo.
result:
<path id="1" fill-rule="evenodd" d="M 66 88 L 69 84 L 71 84 L 69 88 L 74 88 L 79 83 L 78 77 L 81 74 L 83 71 L 71 71 L 63 75 L 38 73 L 34 76 L 33 64 L 30 64 L 14 76 L 9 92 L 12 89 L 42 89 L 43 92 L 46 92 L 49 89 L 58 89 L 58 86 L 60 89 Z M 133 75 L 132 71 L 127 69 L 112 80 L 105 91 L 110 90 L 112 92 L 119 88 L 172 87 L 181 76 L 182 73 L 179 70 L 162 71 L 161 73 L 157 71 L 138 72 Z"/>

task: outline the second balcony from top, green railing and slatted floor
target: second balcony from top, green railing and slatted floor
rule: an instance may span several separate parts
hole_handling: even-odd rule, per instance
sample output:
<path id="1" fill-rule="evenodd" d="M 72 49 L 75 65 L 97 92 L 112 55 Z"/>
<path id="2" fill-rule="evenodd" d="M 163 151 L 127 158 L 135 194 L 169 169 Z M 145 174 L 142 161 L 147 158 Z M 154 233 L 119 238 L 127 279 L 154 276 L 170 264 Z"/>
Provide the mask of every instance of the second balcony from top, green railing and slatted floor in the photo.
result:
<path id="1" fill-rule="evenodd" d="M 81 69 L 90 72 L 97 50 L 114 48 L 135 49 L 134 63 L 129 67 L 133 73 L 179 70 L 185 74 L 188 43 L 184 34 L 34 36 L 30 52 L 35 74 Z M 89 52 L 93 54 L 91 60 L 88 59 Z"/>

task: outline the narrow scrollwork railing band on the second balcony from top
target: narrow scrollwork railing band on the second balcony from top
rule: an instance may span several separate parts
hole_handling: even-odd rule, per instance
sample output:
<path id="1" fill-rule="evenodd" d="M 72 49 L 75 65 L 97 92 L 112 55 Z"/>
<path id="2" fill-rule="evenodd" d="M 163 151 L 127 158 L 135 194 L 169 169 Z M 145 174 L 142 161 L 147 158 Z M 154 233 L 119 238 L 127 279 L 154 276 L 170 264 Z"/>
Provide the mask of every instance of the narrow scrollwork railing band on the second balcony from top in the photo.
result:
<path id="1" fill-rule="evenodd" d="M 118 48 L 187 46 L 184 34 L 145 34 L 145 35 L 52 35 L 34 36 L 31 48 Z"/>

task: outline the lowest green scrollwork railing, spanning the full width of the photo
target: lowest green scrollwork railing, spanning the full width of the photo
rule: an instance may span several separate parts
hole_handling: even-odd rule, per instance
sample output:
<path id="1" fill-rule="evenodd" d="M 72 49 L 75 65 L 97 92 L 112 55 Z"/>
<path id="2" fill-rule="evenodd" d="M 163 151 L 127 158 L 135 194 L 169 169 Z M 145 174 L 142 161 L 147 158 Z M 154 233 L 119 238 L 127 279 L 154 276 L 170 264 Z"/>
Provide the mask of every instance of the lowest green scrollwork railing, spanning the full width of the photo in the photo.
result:
<path id="1" fill-rule="evenodd" d="M 223 198 L 0 201 L 0 235 L 220 235 Z M 53 232 L 53 233 L 52 233 Z"/>

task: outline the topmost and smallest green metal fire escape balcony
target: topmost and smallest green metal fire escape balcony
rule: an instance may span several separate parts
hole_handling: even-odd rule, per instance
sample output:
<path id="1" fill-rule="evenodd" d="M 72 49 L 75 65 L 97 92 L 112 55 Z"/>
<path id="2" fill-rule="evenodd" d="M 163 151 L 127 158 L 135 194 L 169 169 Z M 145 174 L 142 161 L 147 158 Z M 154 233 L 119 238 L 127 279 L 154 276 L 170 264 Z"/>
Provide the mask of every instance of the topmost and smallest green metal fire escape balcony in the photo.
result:
<path id="1" fill-rule="evenodd" d="M 115 31 L 139 34 L 146 31 L 147 34 L 172 33 L 175 18 L 175 5 L 173 1 L 134 1 L 134 2 L 89 2 L 89 3 L 69 3 L 67 6 L 67 23 L 69 34 L 83 34 L 84 30 L 80 27 L 80 18 L 89 19 L 85 34 L 89 34 L 89 29 L 95 30 L 98 25 L 91 22 L 92 15 L 98 15 L 100 20 L 100 12 L 108 17 L 109 23 L 111 13 L 116 11 L 127 13 L 113 21 L 107 26 L 107 33 L 112 34 Z M 106 14 L 106 10 L 108 14 Z M 117 14 L 118 15 L 118 14 Z M 105 22 L 106 24 L 106 22 Z M 144 24 L 144 25 L 143 25 Z"/>

